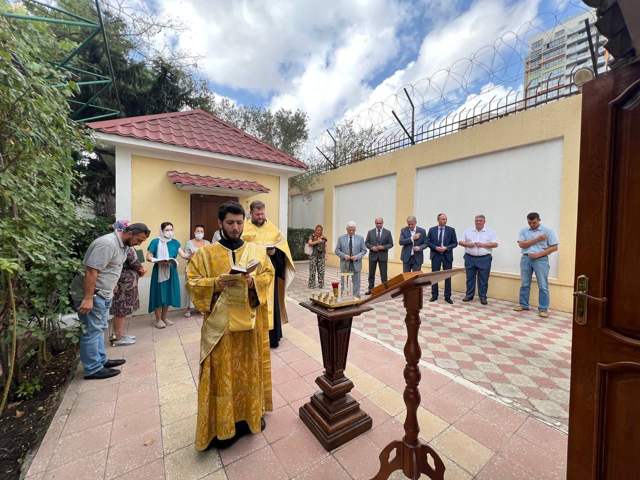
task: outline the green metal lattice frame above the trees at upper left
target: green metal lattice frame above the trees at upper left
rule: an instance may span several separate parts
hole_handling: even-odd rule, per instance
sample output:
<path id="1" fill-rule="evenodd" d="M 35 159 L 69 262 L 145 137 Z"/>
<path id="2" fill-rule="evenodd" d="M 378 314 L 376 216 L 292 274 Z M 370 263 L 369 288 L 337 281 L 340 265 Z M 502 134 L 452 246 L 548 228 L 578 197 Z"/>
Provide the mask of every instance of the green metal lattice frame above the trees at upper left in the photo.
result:
<path id="1" fill-rule="evenodd" d="M 118 89 L 116 88 L 115 85 L 115 81 L 114 81 L 114 75 L 113 75 L 113 65 L 111 63 L 111 52 L 109 52 L 109 44 L 107 42 L 107 36 L 106 36 L 106 31 L 104 30 L 104 22 L 102 21 L 102 13 L 100 12 L 100 4 L 98 3 L 99 0 L 95 0 L 95 8 L 98 12 L 98 19 L 99 21 L 95 21 L 95 20 L 90 20 L 90 19 L 85 19 L 84 17 L 81 17 L 80 15 L 76 15 L 76 13 L 72 13 L 72 12 L 67 12 L 67 10 L 63 10 L 62 8 L 58 8 L 56 6 L 44 3 L 40 0 L 27 0 L 30 3 L 35 3 L 38 4 L 40 6 L 43 6 L 45 8 L 49 8 L 51 10 L 54 10 L 54 12 L 59 12 L 62 13 L 63 15 L 67 15 L 68 17 L 71 17 L 72 19 L 75 20 L 62 20 L 62 19 L 51 19 L 51 18 L 47 18 L 47 17 L 36 17 L 35 15 L 22 15 L 20 13 L 12 13 L 12 12 L 0 12 L 0 15 L 2 15 L 3 17 L 9 17 L 12 19 L 19 19 L 19 20 L 32 20 L 35 22 L 47 22 L 47 23 L 55 23 L 55 24 L 63 24 L 63 25 L 71 25 L 71 26 L 76 26 L 76 27 L 83 27 L 83 28 L 90 28 L 93 31 L 89 34 L 89 36 L 87 38 L 84 39 L 84 41 L 78 45 L 76 47 L 76 49 L 74 49 L 74 51 L 72 51 L 70 54 L 67 55 L 67 57 L 64 60 L 61 61 L 51 61 L 50 63 L 52 63 L 52 65 L 54 65 L 53 69 L 54 70 L 61 70 L 61 69 L 65 69 L 65 70 L 70 70 L 72 72 L 77 72 L 77 73 L 81 73 L 81 74 L 85 74 L 85 75 L 90 75 L 93 76 L 95 78 L 97 78 L 97 80 L 93 80 L 93 81 L 84 81 L 84 82 L 77 82 L 76 84 L 80 87 L 85 86 L 85 85 L 104 85 L 97 93 L 95 93 L 95 95 L 92 95 L 92 97 L 88 100 L 86 100 L 86 102 L 78 102 L 77 100 L 67 100 L 72 106 L 74 105 L 78 105 L 79 107 L 71 114 L 71 118 L 72 120 L 76 120 L 76 122 L 90 122 L 91 120 L 98 120 L 100 118 L 109 118 L 112 116 L 116 116 L 116 115 L 120 115 L 120 111 L 119 110 L 114 110 L 111 108 L 106 108 L 106 107 L 102 107 L 99 105 L 95 105 L 93 104 L 93 100 L 95 100 L 97 97 L 99 97 L 103 92 L 106 92 L 106 90 L 108 90 L 108 88 L 113 85 L 113 87 L 115 88 L 115 93 L 116 93 L 116 99 L 118 100 L 118 106 L 120 105 L 120 97 L 118 95 Z M 79 20 L 79 21 L 77 21 Z M 104 75 L 100 75 L 97 74 L 95 72 L 88 72 L 86 70 L 81 70 L 81 68 L 75 68 L 75 67 L 70 67 L 67 65 L 67 63 L 69 63 L 71 60 L 73 60 L 74 56 L 76 56 L 78 54 L 78 52 L 82 51 L 84 49 L 84 47 L 86 47 L 86 45 L 89 44 L 89 42 L 91 42 L 93 40 L 93 38 L 95 38 L 97 35 L 102 34 L 102 39 L 104 40 L 104 45 L 106 47 L 106 52 L 107 52 L 107 58 L 108 58 L 108 62 L 109 62 L 109 69 L 111 70 L 111 77 L 106 77 Z M 50 73 L 49 75 L 47 75 L 47 79 L 51 78 L 53 76 L 52 73 Z M 63 86 L 68 86 L 68 83 L 57 83 L 54 84 L 54 87 L 56 88 L 60 88 Z M 104 111 L 105 113 L 102 115 L 97 115 L 97 116 L 91 116 L 88 118 L 81 118 L 81 114 L 83 113 L 83 111 L 88 108 L 95 108 L 98 109 L 100 111 Z"/>

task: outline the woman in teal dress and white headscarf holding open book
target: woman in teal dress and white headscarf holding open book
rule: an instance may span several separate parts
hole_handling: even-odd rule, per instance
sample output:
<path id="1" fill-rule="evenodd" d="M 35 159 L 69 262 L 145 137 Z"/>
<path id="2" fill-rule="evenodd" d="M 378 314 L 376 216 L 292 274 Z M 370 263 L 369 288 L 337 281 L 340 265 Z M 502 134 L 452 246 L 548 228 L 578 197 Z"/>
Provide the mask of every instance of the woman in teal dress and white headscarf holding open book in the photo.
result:
<path id="1" fill-rule="evenodd" d="M 149 313 L 156 314 L 157 328 L 173 325 L 173 320 L 166 317 L 169 307 L 180 308 L 180 281 L 175 259 L 178 255 L 186 260 L 193 256 L 184 253 L 180 242 L 172 237 L 173 224 L 165 221 L 160 225 L 159 235 L 151 241 L 147 250 L 147 261 L 156 260 L 151 273 Z"/>

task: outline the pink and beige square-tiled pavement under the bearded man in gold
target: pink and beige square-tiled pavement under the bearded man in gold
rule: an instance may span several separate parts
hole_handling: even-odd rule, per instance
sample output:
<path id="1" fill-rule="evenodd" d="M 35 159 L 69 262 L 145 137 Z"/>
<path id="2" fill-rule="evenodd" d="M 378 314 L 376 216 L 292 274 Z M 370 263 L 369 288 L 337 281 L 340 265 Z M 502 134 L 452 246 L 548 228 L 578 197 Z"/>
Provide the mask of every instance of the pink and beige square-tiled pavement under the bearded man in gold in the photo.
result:
<path id="1" fill-rule="evenodd" d="M 28 480 L 365 480 L 378 454 L 403 435 L 403 358 L 354 332 L 347 375 L 373 428 L 326 452 L 298 418 L 321 373 L 316 319 L 289 301 L 291 322 L 271 353 L 275 411 L 267 428 L 224 451 L 197 452 L 198 347 L 202 317 L 158 330 L 134 317 L 134 346 L 110 348 L 124 357 L 122 374 L 70 383 L 28 470 Z M 558 480 L 566 470 L 567 437 L 557 429 L 421 367 L 420 436 L 442 456 L 447 480 Z M 461 380 L 465 383 L 465 380 Z M 399 472 L 391 477 L 403 478 Z"/>

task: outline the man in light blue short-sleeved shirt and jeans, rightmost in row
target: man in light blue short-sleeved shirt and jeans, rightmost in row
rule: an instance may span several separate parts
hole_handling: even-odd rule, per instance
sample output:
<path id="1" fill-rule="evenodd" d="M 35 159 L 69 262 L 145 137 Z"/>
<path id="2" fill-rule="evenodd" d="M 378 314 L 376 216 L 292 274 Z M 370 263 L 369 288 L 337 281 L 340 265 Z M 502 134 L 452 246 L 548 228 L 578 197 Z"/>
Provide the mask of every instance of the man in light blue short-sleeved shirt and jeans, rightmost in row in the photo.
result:
<path id="1" fill-rule="evenodd" d="M 527 215 L 529 228 L 520 230 L 518 246 L 522 250 L 520 259 L 520 305 L 514 308 L 516 312 L 529 310 L 529 292 L 531 291 L 531 277 L 536 273 L 538 282 L 538 310 L 540 316 L 548 317 L 549 308 L 549 255 L 557 252 L 558 241 L 551 228 L 540 225 L 540 214 L 531 212 Z"/>

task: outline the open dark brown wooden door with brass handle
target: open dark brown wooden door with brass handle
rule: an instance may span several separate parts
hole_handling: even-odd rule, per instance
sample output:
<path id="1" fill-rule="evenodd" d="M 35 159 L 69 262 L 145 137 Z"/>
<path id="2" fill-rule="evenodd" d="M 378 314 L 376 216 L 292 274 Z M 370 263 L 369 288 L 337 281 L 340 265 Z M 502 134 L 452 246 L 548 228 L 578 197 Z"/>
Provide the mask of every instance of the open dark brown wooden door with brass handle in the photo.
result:
<path id="1" fill-rule="evenodd" d="M 584 85 L 580 136 L 574 286 L 607 300 L 575 300 L 567 479 L 637 479 L 640 64 Z"/>

